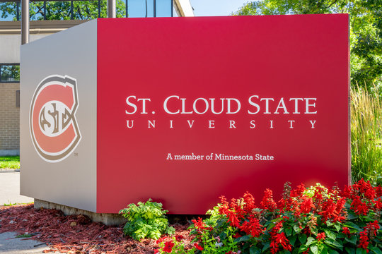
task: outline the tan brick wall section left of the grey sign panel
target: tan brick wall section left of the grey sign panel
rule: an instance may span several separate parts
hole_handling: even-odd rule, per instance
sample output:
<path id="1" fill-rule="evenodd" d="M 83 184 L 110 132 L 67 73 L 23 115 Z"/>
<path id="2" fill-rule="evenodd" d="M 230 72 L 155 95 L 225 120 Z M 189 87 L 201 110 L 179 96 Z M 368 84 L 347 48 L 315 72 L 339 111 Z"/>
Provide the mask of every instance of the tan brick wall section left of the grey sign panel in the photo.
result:
<path id="1" fill-rule="evenodd" d="M 0 83 L 0 150 L 20 150 L 20 108 L 16 107 L 20 83 Z"/>

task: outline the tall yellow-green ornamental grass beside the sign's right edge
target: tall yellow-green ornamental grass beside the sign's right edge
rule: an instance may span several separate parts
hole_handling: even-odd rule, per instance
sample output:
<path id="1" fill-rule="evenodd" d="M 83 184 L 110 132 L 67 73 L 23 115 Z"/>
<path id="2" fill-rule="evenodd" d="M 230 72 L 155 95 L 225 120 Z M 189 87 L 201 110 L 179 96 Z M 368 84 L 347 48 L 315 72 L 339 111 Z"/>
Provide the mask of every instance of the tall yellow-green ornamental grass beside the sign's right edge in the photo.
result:
<path id="1" fill-rule="evenodd" d="M 352 182 L 363 178 L 382 184 L 381 99 L 378 91 L 371 94 L 359 87 L 351 95 Z"/>

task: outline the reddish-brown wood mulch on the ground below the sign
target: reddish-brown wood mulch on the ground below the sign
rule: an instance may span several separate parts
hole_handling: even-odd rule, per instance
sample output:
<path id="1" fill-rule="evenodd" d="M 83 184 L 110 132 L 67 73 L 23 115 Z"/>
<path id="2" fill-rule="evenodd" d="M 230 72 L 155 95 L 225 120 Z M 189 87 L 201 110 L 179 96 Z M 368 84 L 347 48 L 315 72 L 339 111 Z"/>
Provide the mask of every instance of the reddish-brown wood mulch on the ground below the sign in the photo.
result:
<path id="1" fill-rule="evenodd" d="M 175 235 L 184 236 L 185 243 L 190 243 L 188 225 L 171 226 L 176 229 Z M 91 222 L 83 215 L 65 216 L 58 210 L 35 209 L 33 204 L 0 207 L 0 233 L 31 234 L 33 236 L 28 239 L 46 243 L 50 248 L 45 253 L 154 253 L 158 248 L 154 240 L 139 242 L 125 236 L 122 228 L 123 225 L 115 227 Z"/>

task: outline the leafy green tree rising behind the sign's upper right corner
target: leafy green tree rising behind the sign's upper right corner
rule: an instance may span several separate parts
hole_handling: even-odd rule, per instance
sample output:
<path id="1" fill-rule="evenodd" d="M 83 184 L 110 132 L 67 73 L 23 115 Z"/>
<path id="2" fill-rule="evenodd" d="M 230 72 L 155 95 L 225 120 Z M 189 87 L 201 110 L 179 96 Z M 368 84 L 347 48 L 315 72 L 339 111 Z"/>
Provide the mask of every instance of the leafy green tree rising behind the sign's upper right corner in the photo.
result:
<path id="1" fill-rule="evenodd" d="M 382 86 L 382 0 L 252 1 L 233 15 L 316 13 L 349 13 L 352 86 Z"/>

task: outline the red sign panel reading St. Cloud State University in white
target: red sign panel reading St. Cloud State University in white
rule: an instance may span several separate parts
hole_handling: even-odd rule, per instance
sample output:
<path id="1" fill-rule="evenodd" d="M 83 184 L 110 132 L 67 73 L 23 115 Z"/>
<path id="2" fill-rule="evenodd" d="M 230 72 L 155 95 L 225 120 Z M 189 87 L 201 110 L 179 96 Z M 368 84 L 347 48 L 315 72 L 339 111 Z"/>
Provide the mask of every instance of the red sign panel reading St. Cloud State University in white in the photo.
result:
<path id="1" fill-rule="evenodd" d="M 349 179 L 347 15 L 98 20 L 97 212 Z"/>

